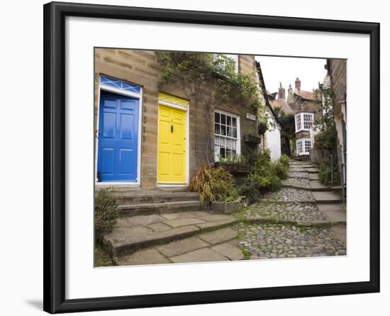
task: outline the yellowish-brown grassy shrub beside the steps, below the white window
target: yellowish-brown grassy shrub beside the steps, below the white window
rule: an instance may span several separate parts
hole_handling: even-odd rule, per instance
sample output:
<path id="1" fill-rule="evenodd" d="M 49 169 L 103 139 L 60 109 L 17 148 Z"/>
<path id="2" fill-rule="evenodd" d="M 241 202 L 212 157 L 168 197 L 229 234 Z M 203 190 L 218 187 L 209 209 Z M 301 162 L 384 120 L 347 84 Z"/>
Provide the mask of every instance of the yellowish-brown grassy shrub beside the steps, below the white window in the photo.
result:
<path id="1" fill-rule="evenodd" d="M 223 168 L 202 165 L 189 183 L 189 190 L 198 192 L 201 203 L 209 204 L 218 196 L 226 195 L 233 189 L 233 177 Z"/>

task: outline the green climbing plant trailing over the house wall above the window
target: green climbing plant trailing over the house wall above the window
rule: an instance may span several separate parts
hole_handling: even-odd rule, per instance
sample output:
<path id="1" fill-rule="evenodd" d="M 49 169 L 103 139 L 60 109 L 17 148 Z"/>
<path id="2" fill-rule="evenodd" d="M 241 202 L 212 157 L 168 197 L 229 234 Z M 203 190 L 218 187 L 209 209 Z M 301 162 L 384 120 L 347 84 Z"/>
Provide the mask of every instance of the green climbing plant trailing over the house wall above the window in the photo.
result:
<path id="1" fill-rule="evenodd" d="M 218 104 L 251 106 L 257 116 L 265 115 L 265 105 L 253 75 L 236 72 L 231 58 L 208 53 L 157 52 L 156 55 L 162 71 L 160 85 L 181 87 L 196 109 L 200 102 L 204 104 L 206 136 L 210 140 L 205 151 L 208 163 L 213 152 L 211 114 Z M 192 113 L 197 124 L 197 111 Z"/>

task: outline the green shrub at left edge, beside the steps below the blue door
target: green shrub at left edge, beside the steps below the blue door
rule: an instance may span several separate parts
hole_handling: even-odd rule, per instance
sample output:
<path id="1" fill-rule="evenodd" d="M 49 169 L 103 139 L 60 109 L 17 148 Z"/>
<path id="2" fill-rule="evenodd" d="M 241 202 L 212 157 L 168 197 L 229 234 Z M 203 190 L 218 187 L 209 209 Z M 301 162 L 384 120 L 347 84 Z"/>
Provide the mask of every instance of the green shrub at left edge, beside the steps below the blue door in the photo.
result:
<path id="1" fill-rule="evenodd" d="M 101 189 L 95 196 L 95 240 L 102 241 L 103 235 L 112 231 L 118 218 L 116 195 L 108 189 Z"/>

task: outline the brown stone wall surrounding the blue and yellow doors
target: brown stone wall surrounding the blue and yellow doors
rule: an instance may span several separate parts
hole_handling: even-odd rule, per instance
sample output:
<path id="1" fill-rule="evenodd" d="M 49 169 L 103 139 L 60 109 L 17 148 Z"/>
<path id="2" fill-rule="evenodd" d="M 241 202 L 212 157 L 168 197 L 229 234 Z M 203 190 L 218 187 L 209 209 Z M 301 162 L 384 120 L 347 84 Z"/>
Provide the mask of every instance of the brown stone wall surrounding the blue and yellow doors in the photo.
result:
<path id="1" fill-rule="evenodd" d="M 238 68 L 243 74 L 253 74 L 256 80 L 254 56 L 240 55 Z M 174 85 L 159 86 L 160 70 L 154 52 L 96 48 L 95 122 L 97 122 L 98 114 L 100 74 L 143 87 L 140 180 L 142 187 L 155 187 L 157 184 L 158 93 L 159 91 L 165 92 L 184 99 L 189 99 L 189 96 Z M 189 101 L 189 179 L 191 179 L 200 165 L 206 163 L 206 155 L 213 157 L 213 109 L 210 113 L 205 113 L 206 104 L 199 102 L 196 108 L 194 102 L 191 102 L 191 99 Z M 256 131 L 256 121 L 246 119 L 247 113 L 255 114 L 252 107 L 243 107 L 242 104 L 218 104 L 216 108 L 240 116 L 241 138 L 245 134 Z M 206 124 L 206 115 L 211 122 L 209 126 Z M 97 126 L 95 128 L 97 129 Z M 243 146 L 242 140 L 241 145 Z M 208 151 L 207 148 L 209 148 Z"/>

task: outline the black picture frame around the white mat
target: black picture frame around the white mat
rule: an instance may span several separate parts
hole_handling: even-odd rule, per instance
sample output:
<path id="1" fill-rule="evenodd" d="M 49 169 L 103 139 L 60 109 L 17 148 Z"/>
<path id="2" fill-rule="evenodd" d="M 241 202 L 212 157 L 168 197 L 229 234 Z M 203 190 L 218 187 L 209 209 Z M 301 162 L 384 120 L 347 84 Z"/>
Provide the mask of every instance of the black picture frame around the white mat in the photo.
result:
<path id="1" fill-rule="evenodd" d="M 65 17 L 368 34 L 370 38 L 369 281 L 65 299 Z M 44 292 L 46 312 L 225 303 L 379 292 L 379 23 L 52 2 L 44 5 Z"/>

